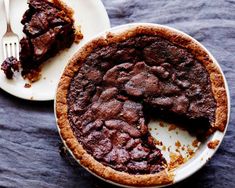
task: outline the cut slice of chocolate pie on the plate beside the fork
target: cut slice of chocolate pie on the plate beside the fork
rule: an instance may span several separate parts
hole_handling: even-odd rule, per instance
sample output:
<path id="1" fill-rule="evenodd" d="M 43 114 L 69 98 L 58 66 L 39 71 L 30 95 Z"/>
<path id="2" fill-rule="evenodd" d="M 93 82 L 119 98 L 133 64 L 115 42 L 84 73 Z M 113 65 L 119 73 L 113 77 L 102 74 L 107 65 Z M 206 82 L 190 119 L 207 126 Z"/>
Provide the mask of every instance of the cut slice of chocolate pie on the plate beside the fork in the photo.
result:
<path id="1" fill-rule="evenodd" d="M 73 10 L 61 0 L 29 0 L 21 23 L 25 37 L 20 41 L 22 75 L 35 81 L 39 68 L 59 51 L 82 39 L 75 28 Z"/>

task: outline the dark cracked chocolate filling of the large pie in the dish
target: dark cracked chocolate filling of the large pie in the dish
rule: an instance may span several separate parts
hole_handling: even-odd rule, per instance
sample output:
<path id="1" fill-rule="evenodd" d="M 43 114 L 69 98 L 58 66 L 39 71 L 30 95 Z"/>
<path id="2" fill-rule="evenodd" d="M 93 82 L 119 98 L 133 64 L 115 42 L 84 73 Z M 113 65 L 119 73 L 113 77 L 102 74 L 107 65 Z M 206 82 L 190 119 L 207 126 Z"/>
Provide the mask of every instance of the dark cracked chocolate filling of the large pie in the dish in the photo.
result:
<path id="1" fill-rule="evenodd" d="M 67 103 L 86 151 L 131 174 L 166 166 L 148 131 L 149 119 L 166 117 L 207 130 L 216 109 L 201 62 L 166 39 L 146 35 L 95 49 L 72 79 Z"/>

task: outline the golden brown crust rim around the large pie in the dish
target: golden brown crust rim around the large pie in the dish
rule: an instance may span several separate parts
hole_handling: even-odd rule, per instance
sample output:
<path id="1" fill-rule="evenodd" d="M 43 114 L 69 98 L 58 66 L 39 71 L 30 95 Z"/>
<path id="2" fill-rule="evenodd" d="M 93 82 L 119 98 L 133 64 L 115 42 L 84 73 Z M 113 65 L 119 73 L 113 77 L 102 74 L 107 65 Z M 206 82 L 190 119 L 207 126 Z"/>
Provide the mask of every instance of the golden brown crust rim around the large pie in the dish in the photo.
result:
<path id="1" fill-rule="evenodd" d="M 78 159 L 84 167 L 88 168 L 94 174 L 106 180 L 131 186 L 142 187 L 170 184 L 173 182 L 173 174 L 167 172 L 166 170 L 156 174 L 131 175 L 125 172 L 116 171 L 96 161 L 91 155 L 86 152 L 86 150 L 83 149 L 82 145 L 77 141 L 76 137 L 72 133 L 67 117 L 67 91 L 72 77 L 78 71 L 81 64 L 85 61 L 86 57 L 93 51 L 93 49 L 97 47 L 120 42 L 125 40 L 126 38 L 133 37 L 139 34 L 158 35 L 167 38 L 171 42 L 190 50 L 190 52 L 205 65 L 210 75 L 212 90 L 217 102 L 216 120 L 213 126 L 221 131 L 224 130 L 227 122 L 227 94 L 223 77 L 218 67 L 214 65 L 213 59 L 211 59 L 207 52 L 197 42 L 192 41 L 191 38 L 186 37 L 181 33 L 173 32 L 162 27 L 146 26 L 139 26 L 118 35 L 109 33 L 107 34 L 106 38 L 101 37 L 93 40 L 74 55 L 74 57 L 70 60 L 69 64 L 65 68 L 63 76 L 58 85 L 56 95 L 57 123 L 60 130 L 60 135 L 65 141 L 67 147 L 72 151 L 74 157 Z"/>

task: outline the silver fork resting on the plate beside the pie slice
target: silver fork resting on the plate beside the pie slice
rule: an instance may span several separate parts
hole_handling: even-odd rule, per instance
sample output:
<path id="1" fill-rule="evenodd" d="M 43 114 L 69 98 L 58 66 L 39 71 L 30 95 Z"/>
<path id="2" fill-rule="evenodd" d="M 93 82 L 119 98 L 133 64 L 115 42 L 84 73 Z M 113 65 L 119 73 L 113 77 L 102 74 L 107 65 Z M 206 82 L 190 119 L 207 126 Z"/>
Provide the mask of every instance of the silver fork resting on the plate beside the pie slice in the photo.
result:
<path id="1" fill-rule="evenodd" d="M 9 6 L 9 0 L 4 0 L 4 7 L 7 18 L 7 31 L 2 38 L 3 57 L 6 59 L 7 57 L 13 56 L 19 60 L 19 37 L 11 29 Z"/>

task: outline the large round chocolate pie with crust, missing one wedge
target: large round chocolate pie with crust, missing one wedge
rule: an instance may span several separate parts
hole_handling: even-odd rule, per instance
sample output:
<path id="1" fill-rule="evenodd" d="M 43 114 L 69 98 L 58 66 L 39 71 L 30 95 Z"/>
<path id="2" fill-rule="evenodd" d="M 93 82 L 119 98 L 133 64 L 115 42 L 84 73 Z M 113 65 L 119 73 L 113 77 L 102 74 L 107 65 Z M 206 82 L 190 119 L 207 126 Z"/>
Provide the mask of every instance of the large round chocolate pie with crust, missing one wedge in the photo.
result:
<path id="1" fill-rule="evenodd" d="M 159 25 L 89 42 L 65 68 L 55 104 L 74 157 L 99 177 L 129 186 L 173 182 L 149 119 L 163 116 L 206 134 L 224 131 L 228 119 L 213 59 L 187 35 Z"/>

